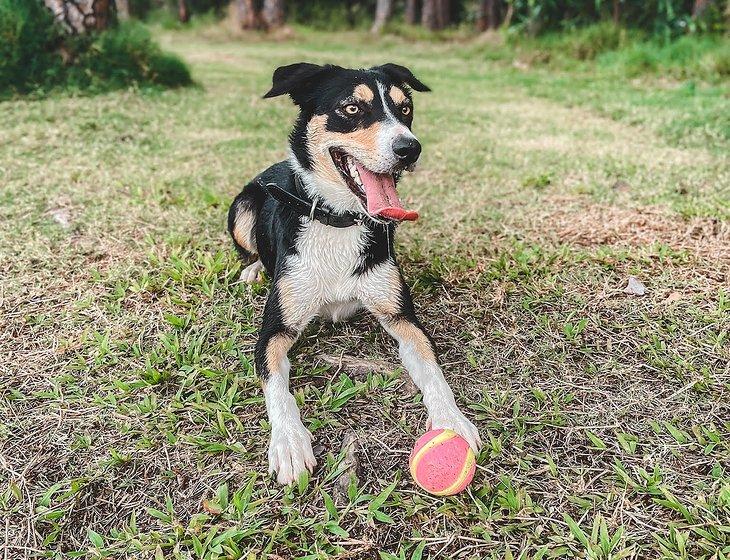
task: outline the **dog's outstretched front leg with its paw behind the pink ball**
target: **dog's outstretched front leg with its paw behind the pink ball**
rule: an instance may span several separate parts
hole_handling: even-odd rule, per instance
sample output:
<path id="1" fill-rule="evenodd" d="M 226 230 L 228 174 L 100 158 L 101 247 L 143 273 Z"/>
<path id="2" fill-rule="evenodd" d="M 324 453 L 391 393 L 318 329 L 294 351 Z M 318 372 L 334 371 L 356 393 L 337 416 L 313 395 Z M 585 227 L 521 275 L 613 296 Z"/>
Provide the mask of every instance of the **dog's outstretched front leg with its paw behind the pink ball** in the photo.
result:
<path id="1" fill-rule="evenodd" d="M 423 394 L 428 410 L 427 428 L 448 428 L 462 436 L 478 451 L 482 446 L 479 431 L 459 410 L 454 393 L 446 382 L 436 357 L 436 348 L 416 317 L 410 290 L 400 271 L 381 269 L 382 278 L 372 282 L 377 291 L 369 291 L 366 306 L 378 318 L 385 330 L 398 342 L 398 352 L 411 379 Z"/>

